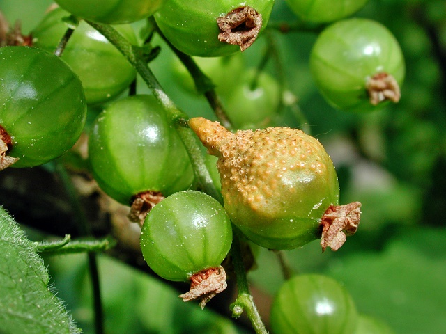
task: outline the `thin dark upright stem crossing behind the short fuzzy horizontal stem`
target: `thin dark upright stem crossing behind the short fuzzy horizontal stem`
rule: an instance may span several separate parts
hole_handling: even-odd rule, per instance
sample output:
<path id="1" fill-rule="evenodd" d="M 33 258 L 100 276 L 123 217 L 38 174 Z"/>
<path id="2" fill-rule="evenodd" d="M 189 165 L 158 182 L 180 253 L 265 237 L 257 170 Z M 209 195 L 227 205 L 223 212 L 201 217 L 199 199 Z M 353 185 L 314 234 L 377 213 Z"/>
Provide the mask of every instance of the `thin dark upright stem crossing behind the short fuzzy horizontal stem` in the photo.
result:
<path id="1" fill-rule="evenodd" d="M 66 193 L 72 205 L 72 209 L 75 214 L 77 221 L 77 226 L 79 232 L 83 235 L 89 236 L 92 234 L 90 223 L 88 218 L 86 218 L 84 209 L 82 208 L 81 202 L 77 197 L 77 191 L 74 184 L 72 183 L 71 177 L 68 174 L 65 167 L 60 163 L 56 163 L 56 170 L 61 177 L 63 186 L 66 189 Z M 93 310 L 95 314 L 95 333 L 104 334 L 104 312 L 102 308 L 102 299 L 100 295 L 100 282 L 99 282 L 99 272 L 98 272 L 98 261 L 96 259 L 95 253 L 87 253 L 89 272 L 91 277 L 91 285 L 93 289 Z"/>

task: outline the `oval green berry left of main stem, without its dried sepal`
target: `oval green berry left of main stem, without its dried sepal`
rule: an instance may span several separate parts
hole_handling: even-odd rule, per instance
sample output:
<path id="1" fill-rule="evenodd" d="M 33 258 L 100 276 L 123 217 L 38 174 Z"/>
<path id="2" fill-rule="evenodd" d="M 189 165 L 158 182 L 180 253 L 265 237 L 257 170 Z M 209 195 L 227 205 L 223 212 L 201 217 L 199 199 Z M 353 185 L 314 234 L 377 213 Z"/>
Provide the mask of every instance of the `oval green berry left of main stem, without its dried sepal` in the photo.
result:
<path id="1" fill-rule="evenodd" d="M 125 97 L 98 115 L 89 161 L 102 190 L 125 205 L 143 191 L 189 189 L 194 179 L 183 142 L 153 95 Z"/>

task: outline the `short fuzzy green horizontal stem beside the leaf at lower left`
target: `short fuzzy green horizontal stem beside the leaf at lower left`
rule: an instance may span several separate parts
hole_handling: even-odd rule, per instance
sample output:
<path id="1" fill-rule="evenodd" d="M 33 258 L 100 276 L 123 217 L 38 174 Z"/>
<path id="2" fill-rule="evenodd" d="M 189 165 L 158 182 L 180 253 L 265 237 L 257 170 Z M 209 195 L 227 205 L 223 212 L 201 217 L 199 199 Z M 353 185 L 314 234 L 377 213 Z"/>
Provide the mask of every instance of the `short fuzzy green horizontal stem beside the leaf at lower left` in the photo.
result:
<path id="1" fill-rule="evenodd" d="M 112 248 L 116 241 L 110 237 L 103 239 L 71 241 L 69 234 L 63 240 L 36 243 L 38 253 L 49 255 L 63 255 L 72 253 L 105 252 Z"/>

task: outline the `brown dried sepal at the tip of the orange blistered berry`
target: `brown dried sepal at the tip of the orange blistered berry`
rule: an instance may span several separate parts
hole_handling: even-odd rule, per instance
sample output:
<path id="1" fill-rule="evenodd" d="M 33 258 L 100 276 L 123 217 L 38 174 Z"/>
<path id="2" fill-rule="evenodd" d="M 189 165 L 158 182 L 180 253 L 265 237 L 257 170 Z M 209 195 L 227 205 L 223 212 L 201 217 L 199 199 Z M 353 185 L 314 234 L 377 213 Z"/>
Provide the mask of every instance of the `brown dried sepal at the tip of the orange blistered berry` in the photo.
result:
<path id="1" fill-rule="evenodd" d="M 322 251 L 330 247 L 338 250 L 346 241 L 347 235 L 355 234 L 360 223 L 361 203 L 330 205 L 321 219 Z"/>

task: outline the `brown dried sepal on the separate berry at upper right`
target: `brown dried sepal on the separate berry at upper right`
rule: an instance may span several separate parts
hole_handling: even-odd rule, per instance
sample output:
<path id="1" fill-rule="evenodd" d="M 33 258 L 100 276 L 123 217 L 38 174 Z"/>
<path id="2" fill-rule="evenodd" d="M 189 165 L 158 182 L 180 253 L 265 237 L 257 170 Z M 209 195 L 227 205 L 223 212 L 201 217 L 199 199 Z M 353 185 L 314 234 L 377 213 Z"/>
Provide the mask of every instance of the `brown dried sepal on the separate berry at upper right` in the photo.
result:
<path id="1" fill-rule="evenodd" d="M 401 98 L 397 80 L 385 72 L 377 73 L 367 81 L 367 92 L 370 103 L 374 106 L 385 100 L 397 103 Z"/>

